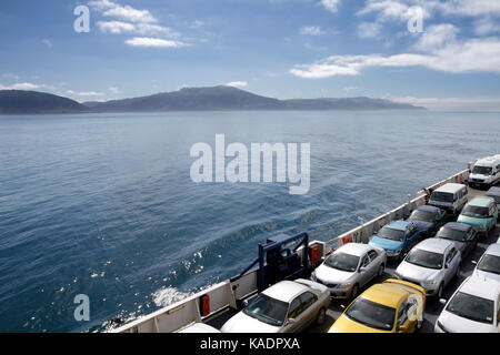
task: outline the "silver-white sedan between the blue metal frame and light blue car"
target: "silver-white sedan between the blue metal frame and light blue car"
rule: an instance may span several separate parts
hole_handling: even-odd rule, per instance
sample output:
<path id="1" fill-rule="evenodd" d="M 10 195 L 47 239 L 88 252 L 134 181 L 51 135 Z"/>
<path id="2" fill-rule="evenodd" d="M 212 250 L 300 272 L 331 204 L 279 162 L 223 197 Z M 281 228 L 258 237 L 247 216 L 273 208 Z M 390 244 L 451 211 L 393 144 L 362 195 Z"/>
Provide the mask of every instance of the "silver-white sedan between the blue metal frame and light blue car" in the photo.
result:
<path id="1" fill-rule="evenodd" d="M 336 298 L 358 296 L 359 290 L 378 276 L 387 264 L 384 250 L 363 243 L 339 247 L 311 274 L 311 280 L 326 285 Z"/>

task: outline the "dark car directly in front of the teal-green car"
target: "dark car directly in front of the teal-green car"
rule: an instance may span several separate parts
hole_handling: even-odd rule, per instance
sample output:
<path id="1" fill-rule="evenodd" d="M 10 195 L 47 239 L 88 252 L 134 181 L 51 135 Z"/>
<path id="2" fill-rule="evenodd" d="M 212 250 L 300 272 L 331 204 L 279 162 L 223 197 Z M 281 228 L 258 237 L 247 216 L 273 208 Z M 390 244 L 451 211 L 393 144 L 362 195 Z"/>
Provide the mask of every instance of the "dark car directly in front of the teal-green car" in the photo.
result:
<path id="1" fill-rule="evenodd" d="M 478 231 L 469 224 L 448 222 L 436 234 L 436 237 L 453 241 L 462 258 L 478 246 Z"/>

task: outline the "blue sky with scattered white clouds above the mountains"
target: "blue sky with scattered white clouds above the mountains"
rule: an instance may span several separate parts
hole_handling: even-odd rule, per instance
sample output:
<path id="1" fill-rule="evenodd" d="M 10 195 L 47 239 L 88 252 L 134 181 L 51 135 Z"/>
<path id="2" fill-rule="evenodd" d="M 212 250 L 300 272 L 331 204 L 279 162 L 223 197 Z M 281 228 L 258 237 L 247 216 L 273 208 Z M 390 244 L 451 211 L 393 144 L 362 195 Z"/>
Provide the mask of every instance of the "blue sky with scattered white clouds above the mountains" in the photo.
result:
<path id="1" fill-rule="evenodd" d="M 0 1 L 0 90 L 83 102 L 219 84 L 500 111 L 500 1 Z"/>

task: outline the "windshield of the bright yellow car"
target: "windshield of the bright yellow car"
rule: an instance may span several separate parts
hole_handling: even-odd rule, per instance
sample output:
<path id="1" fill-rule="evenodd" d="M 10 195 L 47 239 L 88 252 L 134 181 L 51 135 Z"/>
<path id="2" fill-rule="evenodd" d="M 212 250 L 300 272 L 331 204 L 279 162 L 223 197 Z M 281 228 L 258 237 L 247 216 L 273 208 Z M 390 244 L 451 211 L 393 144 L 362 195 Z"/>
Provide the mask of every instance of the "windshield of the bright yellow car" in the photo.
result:
<path id="1" fill-rule="evenodd" d="M 346 315 L 367 326 L 390 331 L 394 324 L 396 310 L 360 297 L 346 311 Z"/>

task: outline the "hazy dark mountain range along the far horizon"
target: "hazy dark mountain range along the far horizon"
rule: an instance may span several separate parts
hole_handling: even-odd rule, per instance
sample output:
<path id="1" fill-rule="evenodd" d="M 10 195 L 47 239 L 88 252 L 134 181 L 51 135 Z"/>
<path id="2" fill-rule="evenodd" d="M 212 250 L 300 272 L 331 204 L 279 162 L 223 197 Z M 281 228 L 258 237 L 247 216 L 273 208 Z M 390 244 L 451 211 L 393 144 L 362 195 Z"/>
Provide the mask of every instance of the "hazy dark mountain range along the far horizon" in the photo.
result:
<path id="1" fill-rule="evenodd" d="M 424 108 L 363 97 L 278 100 L 224 85 L 184 88 L 149 97 L 81 104 L 67 98 L 36 91 L 0 91 L 0 114 L 218 110 L 424 110 Z"/>

